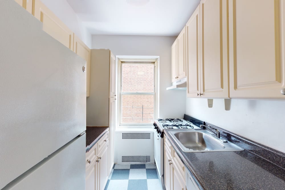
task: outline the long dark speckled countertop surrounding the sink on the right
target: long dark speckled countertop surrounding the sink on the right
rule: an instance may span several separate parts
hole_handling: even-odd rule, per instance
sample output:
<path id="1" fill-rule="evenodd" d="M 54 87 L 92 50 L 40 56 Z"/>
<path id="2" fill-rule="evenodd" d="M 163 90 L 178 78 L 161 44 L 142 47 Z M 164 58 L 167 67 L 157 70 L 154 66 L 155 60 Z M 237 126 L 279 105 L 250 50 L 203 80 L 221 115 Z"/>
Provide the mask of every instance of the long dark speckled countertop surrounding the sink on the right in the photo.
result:
<path id="1" fill-rule="evenodd" d="M 252 150 L 186 153 L 169 135 L 169 131 L 164 130 L 164 134 L 201 189 L 285 189 L 285 169 L 253 154 Z M 249 145 L 242 147 L 247 149 Z M 263 154 L 268 153 L 266 151 L 268 149 Z M 280 156 L 278 162 L 284 164 L 285 154 L 276 152 Z"/>

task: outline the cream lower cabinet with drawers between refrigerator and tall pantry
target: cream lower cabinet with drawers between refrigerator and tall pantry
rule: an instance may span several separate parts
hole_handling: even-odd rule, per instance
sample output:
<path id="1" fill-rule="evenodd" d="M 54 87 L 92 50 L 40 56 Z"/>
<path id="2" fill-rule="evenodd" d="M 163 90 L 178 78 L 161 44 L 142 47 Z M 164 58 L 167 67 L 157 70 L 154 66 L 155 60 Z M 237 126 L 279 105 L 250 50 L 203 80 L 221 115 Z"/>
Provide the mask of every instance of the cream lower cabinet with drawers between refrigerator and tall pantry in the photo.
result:
<path id="1" fill-rule="evenodd" d="M 103 190 L 109 174 L 109 133 L 106 133 L 86 153 L 86 190 Z"/>

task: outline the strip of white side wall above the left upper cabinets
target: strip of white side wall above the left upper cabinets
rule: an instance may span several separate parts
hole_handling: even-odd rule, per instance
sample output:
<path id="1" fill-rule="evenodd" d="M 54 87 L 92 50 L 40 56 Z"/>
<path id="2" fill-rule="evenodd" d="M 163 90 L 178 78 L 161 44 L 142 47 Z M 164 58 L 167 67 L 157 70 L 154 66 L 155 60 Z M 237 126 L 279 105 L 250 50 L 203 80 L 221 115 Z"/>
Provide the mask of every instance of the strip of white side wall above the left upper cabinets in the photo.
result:
<path id="1" fill-rule="evenodd" d="M 70 30 L 91 48 L 91 34 L 66 0 L 41 0 Z"/>

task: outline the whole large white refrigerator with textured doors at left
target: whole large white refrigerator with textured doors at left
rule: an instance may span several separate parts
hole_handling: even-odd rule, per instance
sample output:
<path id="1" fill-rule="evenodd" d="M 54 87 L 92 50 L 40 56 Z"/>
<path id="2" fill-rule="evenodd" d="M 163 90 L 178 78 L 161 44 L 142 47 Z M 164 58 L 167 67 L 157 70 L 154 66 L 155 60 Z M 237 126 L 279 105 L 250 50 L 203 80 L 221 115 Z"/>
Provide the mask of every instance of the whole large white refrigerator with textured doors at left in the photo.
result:
<path id="1" fill-rule="evenodd" d="M 14 0 L 0 14 L 0 189 L 85 189 L 86 62 Z"/>

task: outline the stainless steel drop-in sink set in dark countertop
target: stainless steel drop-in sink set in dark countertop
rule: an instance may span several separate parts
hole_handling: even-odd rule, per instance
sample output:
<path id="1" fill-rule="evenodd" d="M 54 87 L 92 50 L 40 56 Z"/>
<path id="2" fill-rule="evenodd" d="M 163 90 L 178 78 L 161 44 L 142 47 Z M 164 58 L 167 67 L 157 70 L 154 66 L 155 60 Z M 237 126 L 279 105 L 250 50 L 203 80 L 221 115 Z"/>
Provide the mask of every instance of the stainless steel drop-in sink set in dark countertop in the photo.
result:
<path id="1" fill-rule="evenodd" d="M 184 152 L 242 151 L 243 148 L 213 136 L 208 130 L 177 130 L 169 134 Z"/>

